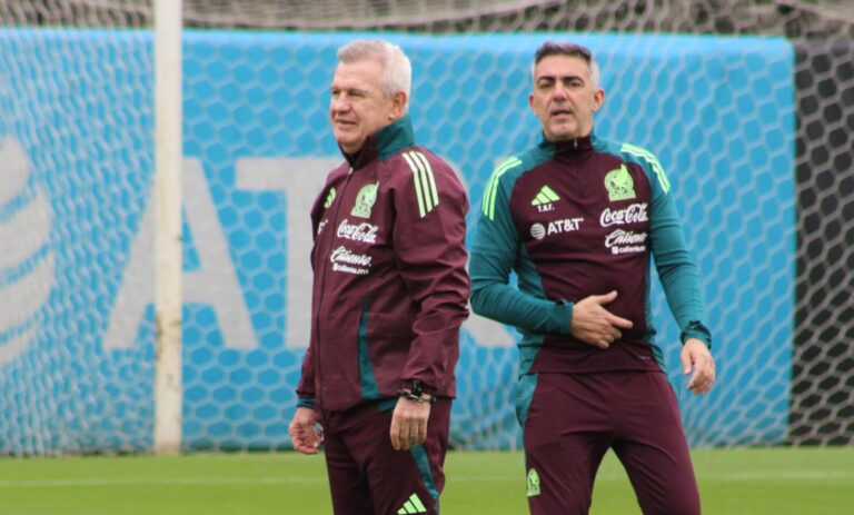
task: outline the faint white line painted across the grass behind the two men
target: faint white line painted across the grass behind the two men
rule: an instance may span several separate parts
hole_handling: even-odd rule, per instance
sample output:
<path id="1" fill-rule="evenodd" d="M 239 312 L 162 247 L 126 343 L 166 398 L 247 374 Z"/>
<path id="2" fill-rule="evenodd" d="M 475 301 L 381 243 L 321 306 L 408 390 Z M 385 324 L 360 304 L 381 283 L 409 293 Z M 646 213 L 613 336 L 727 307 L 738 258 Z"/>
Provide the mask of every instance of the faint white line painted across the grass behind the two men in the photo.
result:
<path id="1" fill-rule="evenodd" d="M 742 472 L 732 474 L 701 474 L 699 482 L 743 482 L 743 481 L 826 481 L 854 479 L 852 472 Z M 624 481 L 622 474 L 599 474 L 596 481 Z M 312 476 L 262 476 L 262 477 L 173 477 L 173 478 L 126 478 L 126 479 L 22 479 L 0 481 L 0 488 L 64 488 L 87 486 L 210 486 L 210 485 L 287 485 L 326 483 L 326 477 Z M 448 478 L 450 483 L 514 483 L 525 481 L 524 474 L 505 476 L 457 476 Z"/>

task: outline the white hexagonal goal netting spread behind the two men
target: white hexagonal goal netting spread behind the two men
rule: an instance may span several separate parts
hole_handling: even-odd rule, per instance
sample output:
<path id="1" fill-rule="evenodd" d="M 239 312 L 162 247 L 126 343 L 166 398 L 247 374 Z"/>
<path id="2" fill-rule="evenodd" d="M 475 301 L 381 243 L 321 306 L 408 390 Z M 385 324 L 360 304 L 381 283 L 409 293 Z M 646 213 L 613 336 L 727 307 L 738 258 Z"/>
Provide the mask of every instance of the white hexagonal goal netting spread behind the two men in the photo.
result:
<path id="1" fill-rule="evenodd" d="M 0 454 L 151 445 L 151 16 L 142 0 L 0 0 Z M 854 439 L 848 2 L 185 0 L 185 24 L 226 29 L 185 37 L 185 447 L 289 445 L 345 29 L 409 52 L 418 139 L 473 206 L 535 140 L 538 42 L 589 46 L 608 91 L 597 131 L 658 155 L 703 275 L 721 373 L 713 395 L 681 398 L 692 443 Z M 272 30 L 318 28 L 342 30 Z M 518 445 L 513 341 L 467 324 L 455 445 Z"/>

